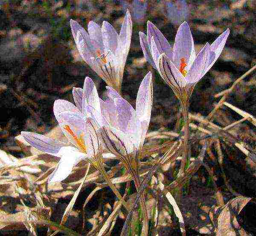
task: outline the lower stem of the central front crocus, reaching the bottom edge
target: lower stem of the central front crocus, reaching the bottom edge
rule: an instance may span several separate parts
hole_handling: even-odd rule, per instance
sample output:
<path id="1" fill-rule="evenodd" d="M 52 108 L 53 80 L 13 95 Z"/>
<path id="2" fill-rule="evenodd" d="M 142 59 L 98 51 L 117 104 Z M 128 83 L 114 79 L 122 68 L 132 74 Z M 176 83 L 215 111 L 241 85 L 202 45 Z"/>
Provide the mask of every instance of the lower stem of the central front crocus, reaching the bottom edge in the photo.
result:
<path id="1" fill-rule="evenodd" d="M 137 173 L 131 173 L 134 179 L 134 184 L 137 189 L 137 191 L 140 189 L 140 178 Z M 142 227 L 142 235 L 147 236 L 148 235 L 148 212 L 147 212 L 147 206 L 145 202 L 145 195 L 142 193 L 140 195 L 140 206 L 143 213 L 143 227 Z"/>

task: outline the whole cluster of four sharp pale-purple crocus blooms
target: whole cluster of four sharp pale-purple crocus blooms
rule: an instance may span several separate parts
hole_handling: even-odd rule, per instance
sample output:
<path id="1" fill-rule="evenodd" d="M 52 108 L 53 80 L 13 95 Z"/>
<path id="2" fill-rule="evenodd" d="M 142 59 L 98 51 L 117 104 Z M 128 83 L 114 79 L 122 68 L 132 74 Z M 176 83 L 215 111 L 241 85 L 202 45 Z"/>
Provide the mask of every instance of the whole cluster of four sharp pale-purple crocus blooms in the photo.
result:
<path id="1" fill-rule="evenodd" d="M 83 89 L 73 88 L 76 105 L 57 100 L 53 106 L 55 118 L 68 143 L 33 132 L 22 132 L 22 135 L 33 147 L 60 158 L 49 182 L 65 179 L 82 159 L 104 173 L 101 163 L 106 154 L 103 151 L 108 150 L 122 161 L 136 187 L 140 187 L 140 152 L 150 122 L 153 88 L 152 75 L 148 72 L 137 93 L 136 109 L 120 95 L 131 43 L 131 15 L 126 12 L 119 34 L 106 21 L 102 27 L 91 21 L 88 32 L 74 20 L 70 20 L 70 25 L 81 57 L 108 84 L 108 98 L 105 101 L 99 98 L 95 84 L 86 77 Z M 228 35 L 229 29 L 211 45 L 206 43 L 196 55 L 186 22 L 178 28 L 173 46 L 153 23 L 148 22 L 147 35 L 140 32 L 140 44 L 145 58 L 172 88 L 186 110 L 195 84 L 218 59 Z"/>

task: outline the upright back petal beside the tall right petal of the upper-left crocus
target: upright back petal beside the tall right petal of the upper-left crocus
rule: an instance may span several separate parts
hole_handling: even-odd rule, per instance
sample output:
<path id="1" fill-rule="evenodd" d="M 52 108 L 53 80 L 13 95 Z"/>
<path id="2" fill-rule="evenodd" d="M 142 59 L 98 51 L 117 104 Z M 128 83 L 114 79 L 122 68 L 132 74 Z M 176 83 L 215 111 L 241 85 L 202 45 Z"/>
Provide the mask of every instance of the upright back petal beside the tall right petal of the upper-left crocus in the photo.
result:
<path id="1" fill-rule="evenodd" d="M 102 40 L 105 49 L 110 49 L 113 53 L 116 52 L 118 34 L 114 27 L 107 21 L 102 23 Z"/>

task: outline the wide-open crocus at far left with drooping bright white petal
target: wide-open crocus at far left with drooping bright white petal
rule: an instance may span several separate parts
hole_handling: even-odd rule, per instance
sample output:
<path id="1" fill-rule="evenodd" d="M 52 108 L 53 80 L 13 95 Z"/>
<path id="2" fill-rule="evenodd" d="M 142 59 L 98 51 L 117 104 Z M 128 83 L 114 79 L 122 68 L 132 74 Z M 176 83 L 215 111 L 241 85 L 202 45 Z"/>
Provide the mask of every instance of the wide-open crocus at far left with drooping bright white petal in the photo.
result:
<path id="1" fill-rule="evenodd" d="M 67 178 L 79 161 L 85 159 L 93 164 L 102 155 L 102 144 L 96 130 L 108 123 L 102 118 L 102 100 L 96 86 L 86 77 L 84 89 L 74 88 L 73 95 L 77 106 L 66 100 L 56 100 L 53 106 L 55 118 L 69 142 L 64 143 L 33 132 L 21 132 L 33 147 L 61 158 L 49 182 Z"/>

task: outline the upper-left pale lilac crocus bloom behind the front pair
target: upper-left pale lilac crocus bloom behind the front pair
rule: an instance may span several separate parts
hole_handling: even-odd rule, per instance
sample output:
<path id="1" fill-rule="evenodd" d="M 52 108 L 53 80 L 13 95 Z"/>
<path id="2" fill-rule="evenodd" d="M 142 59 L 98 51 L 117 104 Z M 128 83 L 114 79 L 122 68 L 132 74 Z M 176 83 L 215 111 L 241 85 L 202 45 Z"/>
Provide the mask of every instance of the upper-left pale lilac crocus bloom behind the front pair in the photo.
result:
<path id="1" fill-rule="evenodd" d="M 83 60 L 109 85 L 121 91 L 126 58 L 131 44 L 132 22 L 125 14 L 119 35 L 103 21 L 102 27 L 90 21 L 88 33 L 75 20 L 70 20 L 72 35 Z"/>

